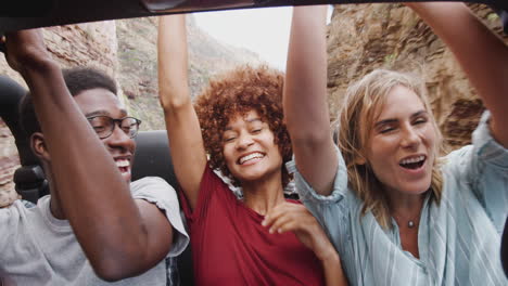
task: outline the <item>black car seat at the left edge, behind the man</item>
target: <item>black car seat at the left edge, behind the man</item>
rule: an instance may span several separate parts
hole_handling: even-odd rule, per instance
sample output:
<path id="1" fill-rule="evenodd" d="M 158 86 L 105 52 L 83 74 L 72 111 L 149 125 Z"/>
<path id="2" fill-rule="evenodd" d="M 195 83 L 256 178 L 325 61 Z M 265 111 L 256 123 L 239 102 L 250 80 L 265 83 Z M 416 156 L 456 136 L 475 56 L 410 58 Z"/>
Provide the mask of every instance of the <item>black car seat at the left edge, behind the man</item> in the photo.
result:
<path id="1" fill-rule="evenodd" d="M 29 140 L 20 126 L 18 105 L 27 90 L 7 76 L 0 76 L 0 117 L 14 136 L 21 167 L 14 172 L 16 192 L 34 204 L 49 194 L 39 159 L 30 150 Z"/>

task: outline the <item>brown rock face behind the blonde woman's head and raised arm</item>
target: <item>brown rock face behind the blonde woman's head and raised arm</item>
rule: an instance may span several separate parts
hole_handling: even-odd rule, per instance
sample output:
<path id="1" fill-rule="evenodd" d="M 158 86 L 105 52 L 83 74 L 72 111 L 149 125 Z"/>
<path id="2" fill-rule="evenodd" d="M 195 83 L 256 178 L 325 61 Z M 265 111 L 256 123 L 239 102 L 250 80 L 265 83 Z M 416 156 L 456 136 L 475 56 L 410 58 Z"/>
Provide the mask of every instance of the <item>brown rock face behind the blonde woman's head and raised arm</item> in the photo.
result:
<path id="1" fill-rule="evenodd" d="M 501 34 L 500 21 L 486 6 L 471 5 Z M 484 109 L 450 51 L 402 4 L 335 5 L 328 35 L 328 90 L 332 118 L 348 84 L 374 68 L 416 72 L 427 82 L 434 115 L 452 148 L 470 143 Z"/>

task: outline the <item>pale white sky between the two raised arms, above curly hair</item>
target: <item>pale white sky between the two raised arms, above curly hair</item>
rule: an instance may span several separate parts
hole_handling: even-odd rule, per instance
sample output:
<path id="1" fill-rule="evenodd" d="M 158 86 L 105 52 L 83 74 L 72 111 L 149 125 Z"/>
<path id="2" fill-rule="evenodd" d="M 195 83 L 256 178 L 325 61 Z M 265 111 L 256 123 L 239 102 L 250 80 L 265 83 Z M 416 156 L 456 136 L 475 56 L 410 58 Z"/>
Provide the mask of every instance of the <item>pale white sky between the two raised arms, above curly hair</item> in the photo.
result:
<path id="1" fill-rule="evenodd" d="M 331 12 L 331 9 L 329 10 Z M 194 13 L 208 35 L 259 55 L 269 65 L 285 69 L 292 8 L 263 8 Z"/>

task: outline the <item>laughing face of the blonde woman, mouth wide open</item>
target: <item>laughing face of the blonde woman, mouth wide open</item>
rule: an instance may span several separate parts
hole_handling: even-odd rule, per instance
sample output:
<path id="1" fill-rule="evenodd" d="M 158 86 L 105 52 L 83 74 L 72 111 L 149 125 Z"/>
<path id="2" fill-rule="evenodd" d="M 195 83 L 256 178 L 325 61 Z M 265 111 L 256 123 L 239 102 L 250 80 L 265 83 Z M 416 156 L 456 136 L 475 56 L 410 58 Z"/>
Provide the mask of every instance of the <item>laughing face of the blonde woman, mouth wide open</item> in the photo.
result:
<path id="1" fill-rule="evenodd" d="M 436 130 L 420 98 L 394 87 L 368 134 L 367 160 L 391 195 L 429 190 L 436 153 Z"/>

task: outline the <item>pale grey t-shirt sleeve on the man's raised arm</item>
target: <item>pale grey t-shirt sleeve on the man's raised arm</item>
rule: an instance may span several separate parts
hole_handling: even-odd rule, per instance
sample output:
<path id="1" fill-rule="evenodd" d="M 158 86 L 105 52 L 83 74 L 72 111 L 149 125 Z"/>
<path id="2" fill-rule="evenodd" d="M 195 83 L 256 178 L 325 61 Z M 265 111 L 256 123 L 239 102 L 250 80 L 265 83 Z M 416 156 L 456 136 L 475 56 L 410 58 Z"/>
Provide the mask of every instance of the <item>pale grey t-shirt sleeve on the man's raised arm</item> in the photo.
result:
<path id="1" fill-rule="evenodd" d="M 173 229 L 177 232 L 174 235 L 172 250 L 167 257 L 180 255 L 189 244 L 189 235 L 183 227 L 175 188 L 162 178 L 145 177 L 131 182 L 130 192 L 135 199 L 144 199 L 165 212 Z"/>

